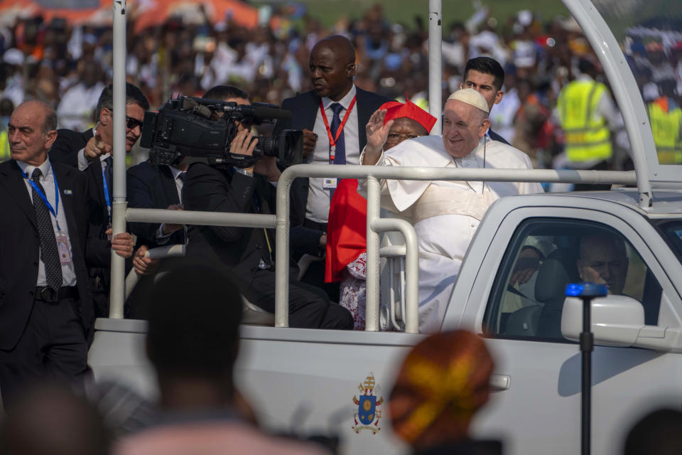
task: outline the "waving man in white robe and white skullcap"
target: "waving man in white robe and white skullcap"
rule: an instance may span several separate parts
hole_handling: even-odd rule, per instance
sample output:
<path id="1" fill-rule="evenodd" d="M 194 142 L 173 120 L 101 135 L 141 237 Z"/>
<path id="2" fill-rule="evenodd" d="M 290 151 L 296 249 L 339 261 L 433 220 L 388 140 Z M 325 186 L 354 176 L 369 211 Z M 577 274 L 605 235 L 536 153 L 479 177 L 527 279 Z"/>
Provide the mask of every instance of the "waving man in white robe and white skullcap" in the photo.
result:
<path id="1" fill-rule="evenodd" d="M 392 121 L 377 110 L 367 124 L 360 163 L 374 166 L 530 169 L 524 152 L 486 137 L 485 98 L 454 92 L 443 109 L 443 137 L 423 136 L 382 151 Z M 362 184 L 361 184 L 362 185 Z M 485 211 L 502 196 L 542 193 L 539 183 L 397 181 L 381 183 L 382 206 L 412 221 L 419 250 L 419 328 L 438 331 L 455 278 Z"/>

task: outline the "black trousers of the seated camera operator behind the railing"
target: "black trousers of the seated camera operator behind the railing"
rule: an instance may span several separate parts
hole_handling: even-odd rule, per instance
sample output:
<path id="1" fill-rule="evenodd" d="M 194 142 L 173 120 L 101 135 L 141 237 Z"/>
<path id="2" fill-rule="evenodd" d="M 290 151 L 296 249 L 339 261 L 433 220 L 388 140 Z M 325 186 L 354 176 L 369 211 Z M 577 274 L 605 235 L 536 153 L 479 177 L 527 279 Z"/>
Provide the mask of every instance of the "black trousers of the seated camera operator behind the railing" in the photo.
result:
<path id="1" fill-rule="evenodd" d="M 289 273 L 289 326 L 299 328 L 335 328 L 352 330 L 350 312 L 332 304 L 325 291 L 297 282 Z M 270 313 L 275 312 L 275 272 L 271 269 L 256 272 L 237 272 L 237 286 L 252 304 Z"/>

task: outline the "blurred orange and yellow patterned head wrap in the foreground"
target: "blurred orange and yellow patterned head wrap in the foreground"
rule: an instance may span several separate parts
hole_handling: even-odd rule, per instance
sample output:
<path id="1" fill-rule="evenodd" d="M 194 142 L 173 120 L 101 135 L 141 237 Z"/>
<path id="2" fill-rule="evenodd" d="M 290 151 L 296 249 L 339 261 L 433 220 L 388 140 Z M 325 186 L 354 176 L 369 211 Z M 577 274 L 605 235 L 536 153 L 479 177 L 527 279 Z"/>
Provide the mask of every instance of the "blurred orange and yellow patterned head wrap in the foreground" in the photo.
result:
<path id="1" fill-rule="evenodd" d="M 475 334 L 429 336 L 408 353 L 391 391 L 394 431 L 413 446 L 464 439 L 472 415 L 488 400 L 492 368 Z"/>

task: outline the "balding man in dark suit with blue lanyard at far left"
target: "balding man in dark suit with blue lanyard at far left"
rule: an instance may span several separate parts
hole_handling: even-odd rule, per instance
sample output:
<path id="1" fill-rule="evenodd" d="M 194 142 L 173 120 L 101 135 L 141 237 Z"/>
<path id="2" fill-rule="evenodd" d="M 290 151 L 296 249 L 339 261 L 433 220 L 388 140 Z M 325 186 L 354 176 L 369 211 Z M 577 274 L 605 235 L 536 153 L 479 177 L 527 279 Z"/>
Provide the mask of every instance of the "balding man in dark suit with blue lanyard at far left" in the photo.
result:
<path id="1" fill-rule="evenodd" d="M 0 391 L 4 405 L 45 377 L 82 381 L 92 332 L 85 254 L 87 183 L 50 163 L 57 116 L 27 101 L 9 120 L 0 164 Z M 117 241 L 114 241 L 117 242 Z"/>

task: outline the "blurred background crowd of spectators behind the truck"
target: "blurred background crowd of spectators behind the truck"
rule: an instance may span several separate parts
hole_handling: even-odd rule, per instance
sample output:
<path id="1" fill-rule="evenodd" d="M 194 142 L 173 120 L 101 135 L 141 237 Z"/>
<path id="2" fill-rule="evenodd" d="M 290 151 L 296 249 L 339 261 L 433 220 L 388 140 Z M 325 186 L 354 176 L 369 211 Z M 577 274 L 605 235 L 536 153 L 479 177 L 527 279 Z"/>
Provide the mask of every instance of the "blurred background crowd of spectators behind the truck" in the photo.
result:
<path id="1" fill-rule="evenodd" d="M 92 127 L 97 97 L 112 77 L 111 3 L 55 9 L 35 0 L 0 2 L 1 128 L 12 107 L 27 97 L 54 105 L 60 127 Z M 335 33 L 351 38 L 357 49 L 358 87 L 396 99 L 407 95 L 428 109 L 428 23 L 420 14 L 391 22 L 377 3 L 346 11 L 325 26 L 310 14 L 310 5 L 295 2 L 197 1 L 174 8 L 172 1 L 130 0 L 128 6 L 126 74 L 152 109 L 169 97 L 198 96 L 218 84 L 247 90 L 252 102 L 279 105 L 310 90 L 310 48 Z M 536 167 L 551 167 L 563 141 L 549 115 L 561 88 L 578 73 L 581 58 L 600 70 L 588 41 L 568 13 L 541 17 L 522 9 L 496 17 L 480 3 L 472 11 L 462 21 L 444 13 L 443 97 L 458 88 L 468 59 L 495 58 L 506 77 L 504 98 L 491 114 L 492 129 L 537 156 Z M 659 97 L 661 83 L 682 92 L 682 27 L 656 21 L 636 25 L 624 32 L 622 44 L 645 102 Z M 6 159 L 1 150 L 0 159 Z M 144 159 L 140 154 L 136 161 Z"/>

